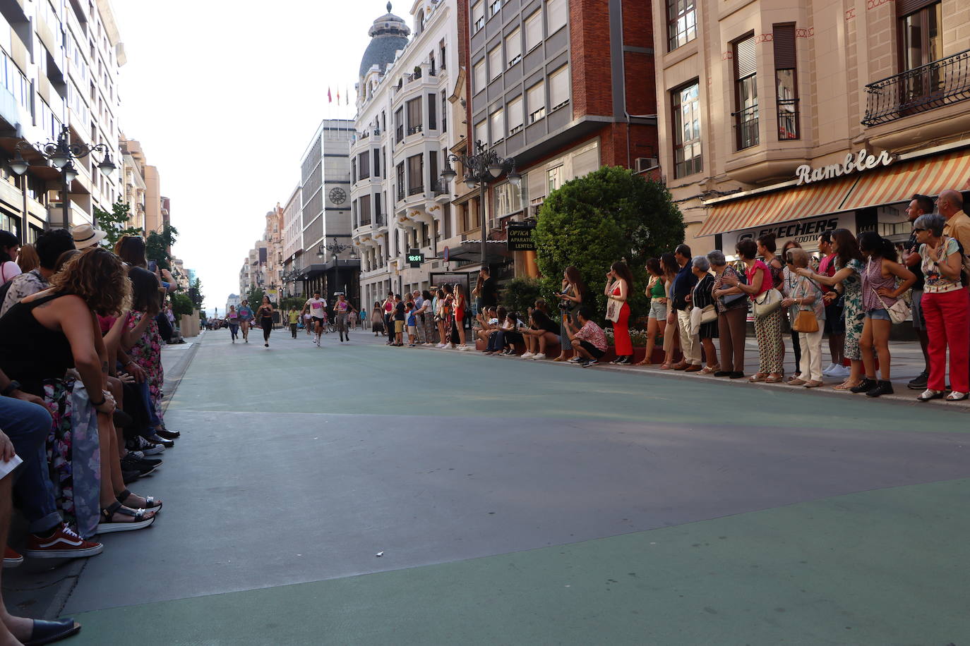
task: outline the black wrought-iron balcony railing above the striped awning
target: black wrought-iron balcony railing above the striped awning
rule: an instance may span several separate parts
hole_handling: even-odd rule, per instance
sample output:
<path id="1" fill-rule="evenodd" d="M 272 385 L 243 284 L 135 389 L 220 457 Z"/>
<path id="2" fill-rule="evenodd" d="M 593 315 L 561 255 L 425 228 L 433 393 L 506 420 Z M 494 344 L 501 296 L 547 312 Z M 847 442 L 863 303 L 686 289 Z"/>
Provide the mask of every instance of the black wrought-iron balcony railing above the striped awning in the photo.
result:
<path id="1" fill-rule="evenodd" d="M 865 86 L 863 126 L 970 99 L 970 49 Z"/>

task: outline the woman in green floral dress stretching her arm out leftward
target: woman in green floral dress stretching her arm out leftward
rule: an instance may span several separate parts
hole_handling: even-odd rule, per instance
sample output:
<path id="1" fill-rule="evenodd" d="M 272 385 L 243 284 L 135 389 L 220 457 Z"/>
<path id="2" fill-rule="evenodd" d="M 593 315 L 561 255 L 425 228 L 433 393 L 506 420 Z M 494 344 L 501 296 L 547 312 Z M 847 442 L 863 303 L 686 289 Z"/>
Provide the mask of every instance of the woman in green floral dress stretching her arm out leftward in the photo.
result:
<path id="1" fill-rule="evenodd" d="M 858 250 L 856 236 L 846 229 L 832 231 L 832 253 L 835 254 L 835 274 L 826 276 L 811 269 L 798 269 L 797 273 L 811 278 L 820 285 L 838 287 L 843 292 L 845 308 L 846 340 L 844 344 L 845 356 L 852 362 L 852 369 L 846 381 L 835 386 L 836 390 L 851 390 L 862 379 L 862 353 L 859 350 L 859 339 L 862 336 L 862 324 L 865 314 L 862 311 L 862 254 Z"/>

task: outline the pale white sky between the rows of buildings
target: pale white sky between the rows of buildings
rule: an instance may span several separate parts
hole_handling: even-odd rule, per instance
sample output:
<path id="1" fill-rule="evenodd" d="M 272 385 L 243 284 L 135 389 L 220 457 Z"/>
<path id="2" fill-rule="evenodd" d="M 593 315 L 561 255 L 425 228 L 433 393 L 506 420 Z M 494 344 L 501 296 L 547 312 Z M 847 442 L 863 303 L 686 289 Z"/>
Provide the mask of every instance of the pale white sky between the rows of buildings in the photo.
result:
<path id="1" fill-rule="evenodd" d="M 202 280 L 210 314 L 239 292 L 242 261 L 296 188 L 320 121 L 353 118 L 367 32 L 385 4 L 113 0 L 128 59 L 119 123 L 158 168 L 174 253 Z M 349 106 L 336 107 L 338 88 Z"/>

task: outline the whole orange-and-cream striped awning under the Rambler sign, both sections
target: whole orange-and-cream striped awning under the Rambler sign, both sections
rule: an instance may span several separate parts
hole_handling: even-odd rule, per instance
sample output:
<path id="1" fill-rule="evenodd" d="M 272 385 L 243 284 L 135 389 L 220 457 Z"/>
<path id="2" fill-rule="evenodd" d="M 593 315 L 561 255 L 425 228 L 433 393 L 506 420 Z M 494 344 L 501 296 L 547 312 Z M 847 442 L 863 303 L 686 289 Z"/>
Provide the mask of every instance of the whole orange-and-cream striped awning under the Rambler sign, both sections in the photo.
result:
<path id="1" fill-rule="evenodd" d="M 914 194 L 939 195 L 960 189 L 970 178 L 970 149 L 932 155 L 862 174 L 728 200 L 710 207 L 697 233 L 714 235 L 839 211 L 909 200 Z"/>

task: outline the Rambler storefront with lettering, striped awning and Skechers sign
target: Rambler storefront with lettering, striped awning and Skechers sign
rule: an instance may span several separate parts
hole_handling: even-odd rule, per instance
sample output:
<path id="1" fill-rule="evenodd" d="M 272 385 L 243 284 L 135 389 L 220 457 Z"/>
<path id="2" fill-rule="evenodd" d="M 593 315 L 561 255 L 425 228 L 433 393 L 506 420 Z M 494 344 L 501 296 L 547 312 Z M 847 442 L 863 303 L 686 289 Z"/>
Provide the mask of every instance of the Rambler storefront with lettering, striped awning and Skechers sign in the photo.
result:
<path id="1" fill-rule="evenodd" d="M 913 195 L 961 189 L 970 178 L 970 141 L 962 147 L 899 156 L 867 152 L 824 167 L 800 167 L 791 181 L 715 200 L 697 237 L 715 236 L 714 247 L 733 255 L 738 240 L 775 234 L 781 248 L 796 240 L 818 250 L 819 235 L 835 229 L 877 231 L 893 242 L 909 237 L 906 206 Z"/>

